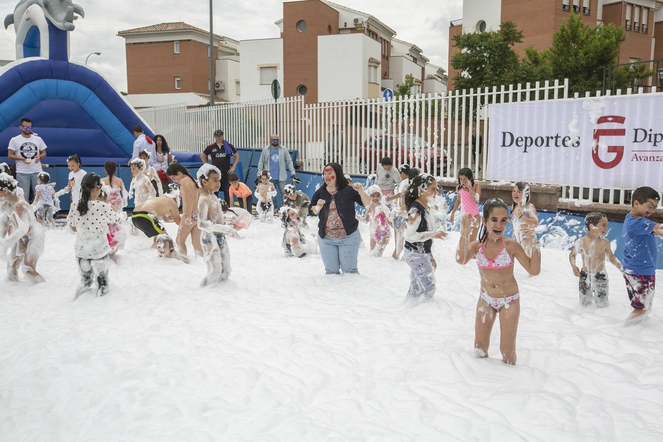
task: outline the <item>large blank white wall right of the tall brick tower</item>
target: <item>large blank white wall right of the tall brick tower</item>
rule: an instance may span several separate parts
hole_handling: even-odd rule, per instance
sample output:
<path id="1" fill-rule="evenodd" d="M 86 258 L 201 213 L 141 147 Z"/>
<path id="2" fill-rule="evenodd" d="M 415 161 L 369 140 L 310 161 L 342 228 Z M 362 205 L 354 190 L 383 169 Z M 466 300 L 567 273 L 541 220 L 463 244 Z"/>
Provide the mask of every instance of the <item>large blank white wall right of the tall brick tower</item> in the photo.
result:
<path id="1" fill-rule="evenodd" d="M 369 58 L 380 60 L 380 49 L 365 34 L 318 36 L 318 101 L 367 97 Z"/>

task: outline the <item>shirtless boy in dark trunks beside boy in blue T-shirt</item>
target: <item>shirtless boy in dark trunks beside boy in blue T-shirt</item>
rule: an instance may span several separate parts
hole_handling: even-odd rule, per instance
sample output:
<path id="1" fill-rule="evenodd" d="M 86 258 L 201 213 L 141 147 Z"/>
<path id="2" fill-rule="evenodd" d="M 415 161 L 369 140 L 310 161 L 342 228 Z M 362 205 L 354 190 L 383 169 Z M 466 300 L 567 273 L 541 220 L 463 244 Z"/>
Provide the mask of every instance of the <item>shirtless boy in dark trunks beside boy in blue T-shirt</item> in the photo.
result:
<path id="1" fill-rule="evenodd" d="M 591 305 L 595 300 L 598 307 L 608 306 L 608 275 L 605 272 L 605 258 L 621 270 L 621 262 L 610 249 L 610 241 L 605 239 L 608 232 L 608 219 L 603 213 L 592 212 L 585 217 L 587 235 L 575 241 L 569 254 L 569 261 L 575 276 L 580 277 L 580 305 Z M 582 256 L 582 270 L 575 265 L 577 254 Z"/>

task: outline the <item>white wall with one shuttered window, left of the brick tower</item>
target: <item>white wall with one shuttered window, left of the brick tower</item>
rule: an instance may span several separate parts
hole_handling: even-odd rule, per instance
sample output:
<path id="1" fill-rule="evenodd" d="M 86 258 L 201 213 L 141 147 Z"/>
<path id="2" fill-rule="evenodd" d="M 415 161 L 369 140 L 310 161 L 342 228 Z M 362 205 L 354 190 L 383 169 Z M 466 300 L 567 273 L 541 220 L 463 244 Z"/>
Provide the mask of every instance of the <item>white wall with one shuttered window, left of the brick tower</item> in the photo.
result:
<path id="1" fill-rule="evenodd" d="M 271 85 L 260 84 L 261 64 L 277 64 L 276 79 L 283 87 L 283 40 L 263 38 L 261 40 L 241 40 L 239 42 L 241 63 L 239 79 L 242 101 L 267 99 L 272 97 Z M 234 87 L 234 80 L 233 80 Z"/>

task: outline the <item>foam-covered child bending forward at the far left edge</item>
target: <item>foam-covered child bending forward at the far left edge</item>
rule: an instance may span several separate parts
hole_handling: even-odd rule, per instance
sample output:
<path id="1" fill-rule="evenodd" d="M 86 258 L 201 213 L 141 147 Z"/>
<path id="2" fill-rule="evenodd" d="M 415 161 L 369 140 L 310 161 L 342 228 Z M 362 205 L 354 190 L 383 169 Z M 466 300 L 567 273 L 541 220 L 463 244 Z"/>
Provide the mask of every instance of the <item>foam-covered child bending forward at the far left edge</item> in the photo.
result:
<path id="1" fill-rule="evenodd" d="M 7 280 L 19 280 L 19 267 L 32 283 L 44 282 L 36 271 L 37 261 L 44 252 L 44 228 L 37 222 L 32 207 L 16 194 L 18 182 L 10 175 L 0 173 L 0 252 L 7 260 Z M 5 235 L 7 235 L 5 237 Z"/>

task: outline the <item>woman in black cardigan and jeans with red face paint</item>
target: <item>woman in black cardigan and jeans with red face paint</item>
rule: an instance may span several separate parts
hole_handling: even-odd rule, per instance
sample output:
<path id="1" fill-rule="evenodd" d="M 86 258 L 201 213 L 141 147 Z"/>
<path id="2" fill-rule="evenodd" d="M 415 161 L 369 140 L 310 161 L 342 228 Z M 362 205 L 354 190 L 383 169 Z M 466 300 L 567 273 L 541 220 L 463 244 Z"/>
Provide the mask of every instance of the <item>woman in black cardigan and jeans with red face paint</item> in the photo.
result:
<path id="1" fill-rule="evenodd" d="M 314 214 L 318 215 L 318 245 L 327 274 L 359 273 L 359 221 L 355 203 L 366 206 L 371 203 L 361 183 L 348 186 L 341 165 L 331 162 L 322 172 L 324 184 L 311 199 Z"/>

